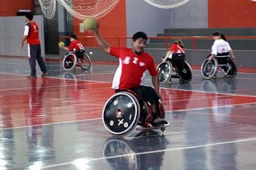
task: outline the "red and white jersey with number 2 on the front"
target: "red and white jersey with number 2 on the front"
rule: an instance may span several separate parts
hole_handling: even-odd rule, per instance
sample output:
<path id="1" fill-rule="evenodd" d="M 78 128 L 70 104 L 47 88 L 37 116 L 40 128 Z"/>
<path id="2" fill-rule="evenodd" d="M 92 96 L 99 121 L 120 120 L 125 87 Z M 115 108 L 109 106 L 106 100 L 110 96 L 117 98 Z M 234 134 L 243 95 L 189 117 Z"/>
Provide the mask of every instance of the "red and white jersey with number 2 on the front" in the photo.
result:
<path id="1" fill-rule="evenodd" d="M 131 48 L 110 47 L 110 55 L 119 58 L 119 66 L 113 79 L 112 88 L 124 90 L 140 87 L 146 70 L 151 76 L 157 76 L 154 58 L 148 53 L 136 55 Z"/>

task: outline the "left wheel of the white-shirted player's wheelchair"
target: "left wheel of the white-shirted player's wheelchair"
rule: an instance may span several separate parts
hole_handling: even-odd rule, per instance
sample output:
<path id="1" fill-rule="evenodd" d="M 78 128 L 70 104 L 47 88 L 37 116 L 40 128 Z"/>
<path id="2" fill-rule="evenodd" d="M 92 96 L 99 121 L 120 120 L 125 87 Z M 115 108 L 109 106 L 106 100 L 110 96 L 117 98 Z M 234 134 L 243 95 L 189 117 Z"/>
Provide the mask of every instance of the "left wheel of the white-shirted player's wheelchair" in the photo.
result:
<path id="1" fill-rule="evenodd" d="M 201 65 L 201 74 L 205 79 L 211 79 L 217 74 L 218 61 L 216 58 L 212 58 L 211 61 L 208 61 L 206 58 Z"/>

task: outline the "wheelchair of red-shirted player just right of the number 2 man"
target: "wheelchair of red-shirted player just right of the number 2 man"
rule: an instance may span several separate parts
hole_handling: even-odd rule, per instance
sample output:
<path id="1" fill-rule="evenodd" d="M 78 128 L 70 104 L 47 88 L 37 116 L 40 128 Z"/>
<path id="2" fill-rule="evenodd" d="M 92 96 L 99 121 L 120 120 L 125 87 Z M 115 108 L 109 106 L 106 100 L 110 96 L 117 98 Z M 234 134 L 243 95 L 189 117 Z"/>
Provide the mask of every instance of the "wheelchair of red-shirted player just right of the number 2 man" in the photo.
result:
<path id="1" fill-rule="evenodd" d="M 160 84 L 171 83 L 172 78 L 178 78 L 181 84 L 192 80 L 192 69 L 184 57 L 167 58 L 166 62 L 159 63 L 157 71 Z"/>

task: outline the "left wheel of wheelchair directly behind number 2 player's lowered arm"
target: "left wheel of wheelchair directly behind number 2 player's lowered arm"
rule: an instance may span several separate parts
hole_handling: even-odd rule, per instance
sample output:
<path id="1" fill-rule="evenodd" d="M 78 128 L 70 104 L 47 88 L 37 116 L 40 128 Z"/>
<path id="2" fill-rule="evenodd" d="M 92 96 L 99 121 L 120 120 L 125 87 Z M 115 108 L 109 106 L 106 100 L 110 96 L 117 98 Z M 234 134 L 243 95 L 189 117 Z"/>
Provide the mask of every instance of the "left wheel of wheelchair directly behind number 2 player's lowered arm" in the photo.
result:
<path id="1" fill-rule="evenodd" d="M 157 72 L 159 75 L 159 83 L 164 84 L 170 79 L 173 66 L 169 61 L 161 62 L 157 66 Z"/>

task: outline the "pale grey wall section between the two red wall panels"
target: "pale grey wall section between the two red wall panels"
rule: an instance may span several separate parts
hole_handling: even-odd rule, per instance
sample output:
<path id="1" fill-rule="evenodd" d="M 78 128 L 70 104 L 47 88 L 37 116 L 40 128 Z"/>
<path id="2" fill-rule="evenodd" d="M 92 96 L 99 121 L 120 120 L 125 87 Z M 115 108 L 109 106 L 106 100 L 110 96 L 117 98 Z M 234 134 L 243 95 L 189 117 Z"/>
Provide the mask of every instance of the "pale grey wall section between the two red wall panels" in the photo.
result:
<path id="1" fill-rule="evenodd" d="M 143 0 L 127 0 L 127 36 L 145 31 L 157 36 L 165 28 L 208 28 L 208 0 L 190 0 L 173 9 L 159 9 Z"/>

